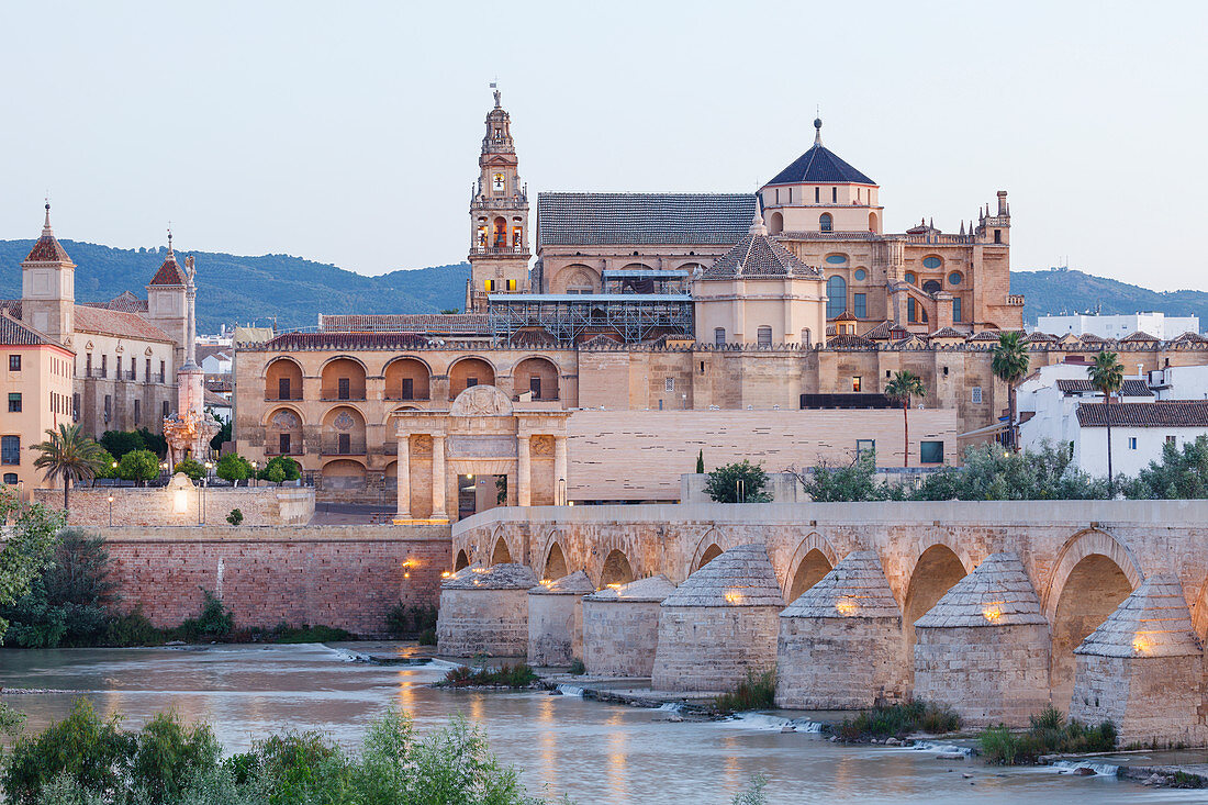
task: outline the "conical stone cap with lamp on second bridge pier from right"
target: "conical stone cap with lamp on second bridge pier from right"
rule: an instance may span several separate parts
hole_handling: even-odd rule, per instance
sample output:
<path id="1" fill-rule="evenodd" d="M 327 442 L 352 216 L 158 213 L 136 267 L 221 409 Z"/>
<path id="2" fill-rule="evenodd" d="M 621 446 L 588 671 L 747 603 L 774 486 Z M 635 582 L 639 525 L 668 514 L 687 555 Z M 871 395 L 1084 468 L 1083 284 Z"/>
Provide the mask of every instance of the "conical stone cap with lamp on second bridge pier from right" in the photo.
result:
<path id="1" fill-rule="evenodd" d="M 957 581 L 916 629 L 994 627 L 1047 624 L 1040 598 L 1015 554 L 992 554 Z"/>

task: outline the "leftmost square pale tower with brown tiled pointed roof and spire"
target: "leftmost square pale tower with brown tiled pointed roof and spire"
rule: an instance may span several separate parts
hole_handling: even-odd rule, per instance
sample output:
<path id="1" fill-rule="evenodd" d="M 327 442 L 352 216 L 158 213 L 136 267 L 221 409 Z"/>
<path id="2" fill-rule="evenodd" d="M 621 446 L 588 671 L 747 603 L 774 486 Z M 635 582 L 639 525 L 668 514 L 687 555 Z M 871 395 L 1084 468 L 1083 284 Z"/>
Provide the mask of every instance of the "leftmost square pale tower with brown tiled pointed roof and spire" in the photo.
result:
<path id="1" fill-rule="evenodd" d="M 51 228 L 47 201 L 42 234 L 21 263 L 21 318 L 62 344 L 75 330 L 75 268 Z"/>

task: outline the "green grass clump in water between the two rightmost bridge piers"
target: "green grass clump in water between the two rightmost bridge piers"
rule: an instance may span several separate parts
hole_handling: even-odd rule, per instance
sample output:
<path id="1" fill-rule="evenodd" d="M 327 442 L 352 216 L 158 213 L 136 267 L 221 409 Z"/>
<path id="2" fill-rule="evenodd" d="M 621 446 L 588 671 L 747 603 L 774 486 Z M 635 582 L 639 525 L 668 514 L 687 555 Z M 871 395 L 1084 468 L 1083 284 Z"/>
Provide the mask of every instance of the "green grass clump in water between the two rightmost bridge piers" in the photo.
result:
<path id="1" fill-rule="evenodd" d="M 1065 720 L 1056 707 L 1046 707 L 1030 717 L 1024 732 L 1012 732 L 1004 725 L 985 730 L 978 740 L 986 763 L 1000 766 L 1035 764 L 1045 754 L 1084 754 L 1114 752 L 1116 726 L 1103 722 L 1087 726 L 1076 719 Z"/>

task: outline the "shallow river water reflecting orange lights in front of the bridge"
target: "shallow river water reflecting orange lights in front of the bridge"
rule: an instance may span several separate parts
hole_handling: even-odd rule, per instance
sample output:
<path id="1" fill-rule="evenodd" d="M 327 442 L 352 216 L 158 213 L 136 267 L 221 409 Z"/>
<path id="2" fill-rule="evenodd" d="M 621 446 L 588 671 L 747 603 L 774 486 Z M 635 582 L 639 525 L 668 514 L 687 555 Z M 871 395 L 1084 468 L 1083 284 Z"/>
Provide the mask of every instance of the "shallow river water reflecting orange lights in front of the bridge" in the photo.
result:
<path id="1" fill-rule="evenodd" d="M 387 706 L 422 732 L 461 712 L 515 764 L 530 793 L 579 803 L 728 803 L 755 775 L 768 801 L 1097 803 L 1203 801 L 1203 792 L 1150 789 L 1108 776 L 987 768 L 935 752 L 847 747 L 782 732 L 778 717 L 670 723 L 666 713 L 545 693 L 458 693 L 428 685 L 447 666 L 350 661 L 325 645 L 161 649 L 0 649 L 0 685 L 81 691 L 135 726 L 167 707 L 209 722 L 228 751 L 289 729 L 355 747 Z M 7 695 L 28 728 L 62 718 L 79 694 Z M 965 777 L 971 775 L 971 777 Z"/>

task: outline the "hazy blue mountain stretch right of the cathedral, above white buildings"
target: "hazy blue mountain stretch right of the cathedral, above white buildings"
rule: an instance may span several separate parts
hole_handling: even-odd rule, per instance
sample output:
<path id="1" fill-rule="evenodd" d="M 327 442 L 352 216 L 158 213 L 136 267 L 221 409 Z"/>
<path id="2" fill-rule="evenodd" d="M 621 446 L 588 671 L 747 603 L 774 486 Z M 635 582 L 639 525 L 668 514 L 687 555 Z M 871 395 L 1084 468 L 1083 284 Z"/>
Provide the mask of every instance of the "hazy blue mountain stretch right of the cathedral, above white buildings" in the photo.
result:
<path id="1" fill-rule="evenodd" d="M 1208 325 L 1206 291 L 1154 291 L 1068 268 L 1012 271 L 1011 293 L 1023 294 L 1023 318 L 1029 326 L 1040 315 L 1093 313 L 1097 308 L 1104 314 L 1158 311 L 1167 315 L 1198 315 L 1201 326 Z"/>

